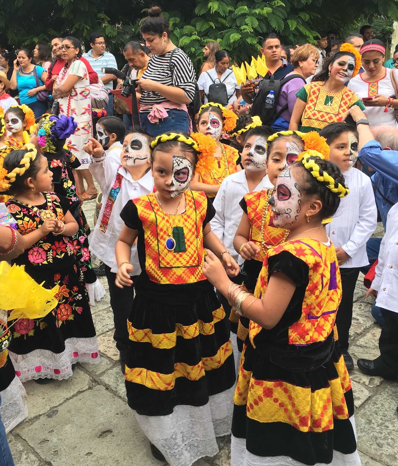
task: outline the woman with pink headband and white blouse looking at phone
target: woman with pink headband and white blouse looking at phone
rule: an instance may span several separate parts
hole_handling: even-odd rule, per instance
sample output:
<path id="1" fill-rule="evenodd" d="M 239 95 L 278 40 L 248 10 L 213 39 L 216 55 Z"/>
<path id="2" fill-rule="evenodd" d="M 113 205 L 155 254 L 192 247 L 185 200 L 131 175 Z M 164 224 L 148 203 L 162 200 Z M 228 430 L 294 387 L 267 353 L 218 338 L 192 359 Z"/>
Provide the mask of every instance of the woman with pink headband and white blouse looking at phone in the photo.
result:
<path id="1" fill-rule="evenodd" d="M 391 124 L 398 128 L 395 109 L 398 109 L 398 96 L 395 82 L 398 82 L 396 69 L 384 68 L 385 45 L 378 39 L 366 41 L 361 47 L 363 73 L 348 82 L 348 89 L 362 99 L 364 113 L 370 128 L 380 124 Z"/>

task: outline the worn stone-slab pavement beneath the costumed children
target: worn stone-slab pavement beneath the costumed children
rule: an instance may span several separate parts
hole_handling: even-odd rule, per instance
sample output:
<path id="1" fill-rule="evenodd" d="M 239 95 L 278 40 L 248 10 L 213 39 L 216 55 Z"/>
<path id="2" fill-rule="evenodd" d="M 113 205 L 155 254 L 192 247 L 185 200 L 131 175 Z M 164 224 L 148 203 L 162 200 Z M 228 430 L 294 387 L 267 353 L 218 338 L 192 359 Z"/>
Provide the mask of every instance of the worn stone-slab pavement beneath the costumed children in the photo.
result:
<path id="1" fill-rule="evenodd" d="M 90 224 L 95 201 L 84 203 Z M 378 226 L 375 236 L 381 236 Z M 105 277 L 101 278 L 107 289 Z M 379 327 L 370 315 L 362 274 L 355 289 L 350 353 L 378 356 Z M 78 364 L 62 382 L 25 384 L 28 418 L 8 435 L 16 466 L 162 466 L 153 459 L 149 443 L 127 405 L 119 354 L 113 340 L 109 295 L 92 308 L 101 361 Z M 356 364 L 355 364 L 356 367 Z M 398 385 L 380 377 L 351 374 L 355 397 L 358 449 L 364 466 L 398 465 Z M 219 439 L 220 452 L 195 466 L 230 464 L 230 439 Z"/>

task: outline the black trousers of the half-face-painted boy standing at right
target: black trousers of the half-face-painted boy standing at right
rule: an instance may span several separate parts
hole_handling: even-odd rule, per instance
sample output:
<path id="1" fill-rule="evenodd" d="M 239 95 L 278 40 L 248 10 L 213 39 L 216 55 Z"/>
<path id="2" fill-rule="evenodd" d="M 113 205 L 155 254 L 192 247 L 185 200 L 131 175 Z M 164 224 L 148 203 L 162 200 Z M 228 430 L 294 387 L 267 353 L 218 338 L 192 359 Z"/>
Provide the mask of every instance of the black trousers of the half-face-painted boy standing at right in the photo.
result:
<path id="1" fill-rule="evenodd" d="M 348 336 L 352 322 L 352 302 L 356 281 L 358 280 L 359 267 L 341 268 L 341 303 L 336 315 L 336 326 L 339 333 L 339 348 L 342 353 L 348 351 Z"/>

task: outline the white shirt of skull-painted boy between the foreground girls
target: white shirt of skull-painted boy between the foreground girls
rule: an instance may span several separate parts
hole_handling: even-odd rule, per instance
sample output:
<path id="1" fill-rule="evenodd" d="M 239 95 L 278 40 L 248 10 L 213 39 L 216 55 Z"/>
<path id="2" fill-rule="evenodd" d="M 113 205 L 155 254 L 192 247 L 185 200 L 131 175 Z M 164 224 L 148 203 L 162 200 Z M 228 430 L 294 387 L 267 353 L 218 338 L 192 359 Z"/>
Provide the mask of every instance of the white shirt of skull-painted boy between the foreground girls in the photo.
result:
<path id="1" fill-rule="evenodd" d="M 268 175 L 265 175 L 256 186 L 256 191 L 273 188 Z M 234 237 L 242 219 L 242 207 L 239 205 L 245 194 L 249 192 L 249 186 L 244 170 L 233 173 L 224 178 L 220 189 L 214 198 L 213 207 L 216 211 L 210 221 L 213 233 L 218 237 L 229 254 L 242 265 L 242 257 L 234 249 Z"/>

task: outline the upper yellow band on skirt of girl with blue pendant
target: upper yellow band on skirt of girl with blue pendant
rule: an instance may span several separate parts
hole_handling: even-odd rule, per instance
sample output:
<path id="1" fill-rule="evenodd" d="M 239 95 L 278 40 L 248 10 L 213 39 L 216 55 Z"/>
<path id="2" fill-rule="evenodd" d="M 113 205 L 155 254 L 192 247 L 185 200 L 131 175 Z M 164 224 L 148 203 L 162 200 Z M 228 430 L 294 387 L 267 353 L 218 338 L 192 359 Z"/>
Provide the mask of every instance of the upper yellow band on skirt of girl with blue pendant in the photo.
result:
<path id="1" fill-rule="evenodd" d="M 199 333 L 202 335 L 212 335 L 214 324 L 220 322 L 225 317 L 223 307 L 213 311 L 213 322 L 203 322 L 198 320 L 191 325 L 176 323 L 176 329 L 171 333 L 152 333 L 151 329 L 135 329 L 131 322 L 127 321 L 128 338 L 133 342 L 151 343 L 154 348 L 171 349 L 176 346 L 177 337 L 185 339 L 195 338 Z"/>

